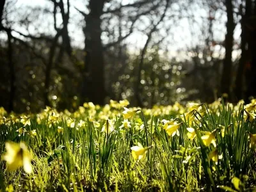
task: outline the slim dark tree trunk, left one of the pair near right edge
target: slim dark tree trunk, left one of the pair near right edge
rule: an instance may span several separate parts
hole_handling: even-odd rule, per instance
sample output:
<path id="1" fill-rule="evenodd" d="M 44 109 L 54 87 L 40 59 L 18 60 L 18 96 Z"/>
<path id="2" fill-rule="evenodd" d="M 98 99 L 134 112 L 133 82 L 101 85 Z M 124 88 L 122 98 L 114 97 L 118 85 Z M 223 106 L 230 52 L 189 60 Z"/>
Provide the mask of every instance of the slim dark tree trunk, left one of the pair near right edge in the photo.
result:
<path id="1" fill-rule="evenodd" d="M 230 85 L 232 82 L 232 47 L 234 33 L 234 17 L 232 0 L 226 0 L 227 8 L 227 34 L 225 36 L 225 59 L 223 62 L 223 73 L 221 77 L 221 93 L 228 93 L 230 96 Z"/>

